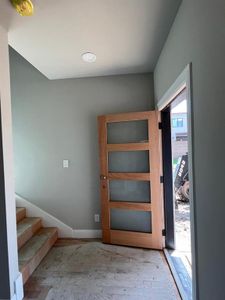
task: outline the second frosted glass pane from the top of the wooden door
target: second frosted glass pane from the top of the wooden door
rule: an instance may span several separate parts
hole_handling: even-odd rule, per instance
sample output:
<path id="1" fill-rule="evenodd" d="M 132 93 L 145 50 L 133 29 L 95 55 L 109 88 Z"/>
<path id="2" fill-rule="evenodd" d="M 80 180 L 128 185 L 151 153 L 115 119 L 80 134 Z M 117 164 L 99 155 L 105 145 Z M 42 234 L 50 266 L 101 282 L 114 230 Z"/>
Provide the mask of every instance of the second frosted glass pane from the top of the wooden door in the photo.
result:
<path id="1" fill-rule="evenodd" d="M 148 151 L 109 152 L 109 172 L 149 172 Z"/>

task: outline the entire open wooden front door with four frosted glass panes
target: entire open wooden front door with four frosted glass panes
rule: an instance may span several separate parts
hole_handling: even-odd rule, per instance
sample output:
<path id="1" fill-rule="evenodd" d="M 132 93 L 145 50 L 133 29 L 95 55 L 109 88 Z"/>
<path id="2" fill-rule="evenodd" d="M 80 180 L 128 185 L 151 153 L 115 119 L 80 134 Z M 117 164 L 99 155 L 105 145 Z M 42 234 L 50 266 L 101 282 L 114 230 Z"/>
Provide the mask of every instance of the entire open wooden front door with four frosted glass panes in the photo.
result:
<path id="1" fill-rule="evenodd" d="M 164 247 L 159 112 L 98 117 L 103 242 Z"/>

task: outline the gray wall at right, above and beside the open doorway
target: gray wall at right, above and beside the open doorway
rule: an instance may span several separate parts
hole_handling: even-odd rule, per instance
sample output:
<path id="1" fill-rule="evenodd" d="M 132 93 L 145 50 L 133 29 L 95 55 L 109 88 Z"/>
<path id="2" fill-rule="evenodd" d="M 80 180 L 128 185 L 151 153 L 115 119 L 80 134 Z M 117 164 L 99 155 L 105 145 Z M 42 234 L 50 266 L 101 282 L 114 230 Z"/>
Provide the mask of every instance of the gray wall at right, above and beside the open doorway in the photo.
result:
<path id="1" fill-rule="evenodd" d="M 159 100 L 193 66 L 197 299 L 225 297 L 225 1 L 183 1 L 155 68 Z"/>

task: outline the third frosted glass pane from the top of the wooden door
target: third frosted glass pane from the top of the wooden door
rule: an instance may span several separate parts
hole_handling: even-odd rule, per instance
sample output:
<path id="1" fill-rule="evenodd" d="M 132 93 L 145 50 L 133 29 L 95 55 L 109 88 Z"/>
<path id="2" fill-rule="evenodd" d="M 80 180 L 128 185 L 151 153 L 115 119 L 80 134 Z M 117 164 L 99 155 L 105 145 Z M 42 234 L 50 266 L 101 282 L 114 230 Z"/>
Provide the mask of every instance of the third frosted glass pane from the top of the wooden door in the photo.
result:
<path id="1" fill-rule="evenodd" d="M 110 180 L 109 195 L 112 201 L 151 202 L 150 182 L 134 180 Z"/>

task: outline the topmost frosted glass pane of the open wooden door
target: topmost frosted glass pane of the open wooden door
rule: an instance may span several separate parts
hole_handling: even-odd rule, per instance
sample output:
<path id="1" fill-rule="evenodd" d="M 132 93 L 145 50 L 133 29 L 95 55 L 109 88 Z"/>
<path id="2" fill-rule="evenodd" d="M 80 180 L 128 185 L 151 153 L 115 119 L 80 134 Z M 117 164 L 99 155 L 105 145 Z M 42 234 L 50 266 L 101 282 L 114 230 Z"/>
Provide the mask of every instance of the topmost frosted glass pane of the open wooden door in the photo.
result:
<path id="1" fill-rule="evenodd" d="M 148 121 L 107 124 L 108 144 L 139 143 L 148 140 Z"/>

